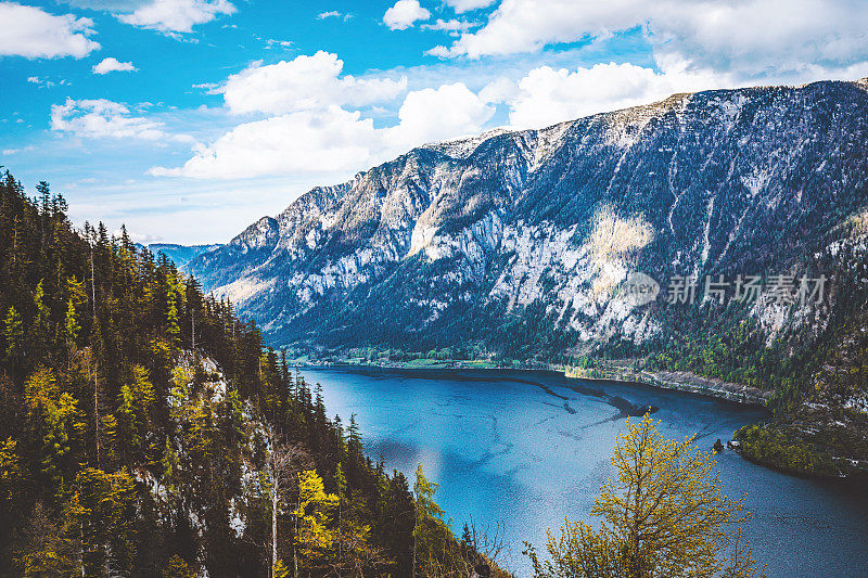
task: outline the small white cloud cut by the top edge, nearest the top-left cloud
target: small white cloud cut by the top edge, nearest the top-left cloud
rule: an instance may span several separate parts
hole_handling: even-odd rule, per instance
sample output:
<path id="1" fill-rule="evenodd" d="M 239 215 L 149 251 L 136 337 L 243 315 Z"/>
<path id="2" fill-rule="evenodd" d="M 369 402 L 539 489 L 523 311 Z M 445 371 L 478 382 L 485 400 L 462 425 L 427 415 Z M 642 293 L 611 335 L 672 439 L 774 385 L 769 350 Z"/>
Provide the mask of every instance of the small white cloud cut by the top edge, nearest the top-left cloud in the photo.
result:
<path id="1" fill-rule="evenodd" d="M 235 7 L 228 0 L 152 0 L 131 14 L 118 14 L 117 18 L 132 26 L 173 34 L 190 33 L 197 24 L 234 13 Z"/>

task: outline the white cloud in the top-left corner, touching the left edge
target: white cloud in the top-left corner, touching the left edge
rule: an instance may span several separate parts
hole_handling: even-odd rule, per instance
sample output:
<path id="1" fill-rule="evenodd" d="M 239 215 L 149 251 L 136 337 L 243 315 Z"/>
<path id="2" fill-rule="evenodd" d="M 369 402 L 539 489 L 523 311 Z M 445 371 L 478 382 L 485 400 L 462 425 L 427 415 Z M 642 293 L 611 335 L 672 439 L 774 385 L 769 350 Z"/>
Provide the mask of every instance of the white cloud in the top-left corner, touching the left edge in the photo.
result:
<path id="1" fill-rule="evenodd" d="M 93 21 L 54 15 L 35 7 L 0 2 L 0 55 L 26 59 L 81 59 L 100 44 L 91 40 Z"/>

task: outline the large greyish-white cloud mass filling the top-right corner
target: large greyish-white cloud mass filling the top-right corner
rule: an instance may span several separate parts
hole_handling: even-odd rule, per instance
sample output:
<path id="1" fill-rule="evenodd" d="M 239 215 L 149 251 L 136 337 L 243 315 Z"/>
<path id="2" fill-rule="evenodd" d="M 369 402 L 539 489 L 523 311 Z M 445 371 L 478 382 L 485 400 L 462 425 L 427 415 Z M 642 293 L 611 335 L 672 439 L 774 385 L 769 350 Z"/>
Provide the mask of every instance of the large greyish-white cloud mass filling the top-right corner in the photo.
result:
<path id="1" fill-rule="evenodd" d="M 661 65 L 741 75 L 868 60 L 868 3 L 847 0 L 503 0 L 441 56 L 514 54 L 640 27 Z"/>

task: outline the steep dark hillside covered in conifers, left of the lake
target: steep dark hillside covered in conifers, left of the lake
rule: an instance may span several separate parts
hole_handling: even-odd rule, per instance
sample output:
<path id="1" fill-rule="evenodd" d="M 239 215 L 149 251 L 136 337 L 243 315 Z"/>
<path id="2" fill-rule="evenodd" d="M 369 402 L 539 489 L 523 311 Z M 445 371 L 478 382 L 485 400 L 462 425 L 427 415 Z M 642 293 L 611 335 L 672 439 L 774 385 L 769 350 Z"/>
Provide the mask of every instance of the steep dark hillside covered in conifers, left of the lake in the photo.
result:
<path id="1" fill-rule="evenodd" d="M 353 418 L 327 418 L 319 387 L 228 301 L 126 234 L 75 231 L 63 197 L 38 191 L 0 181 L 0 576 L 486 562 L 473 532 L 416 513 L 432 503 L 423 475 L 411 492 L 372 463 Z"/>

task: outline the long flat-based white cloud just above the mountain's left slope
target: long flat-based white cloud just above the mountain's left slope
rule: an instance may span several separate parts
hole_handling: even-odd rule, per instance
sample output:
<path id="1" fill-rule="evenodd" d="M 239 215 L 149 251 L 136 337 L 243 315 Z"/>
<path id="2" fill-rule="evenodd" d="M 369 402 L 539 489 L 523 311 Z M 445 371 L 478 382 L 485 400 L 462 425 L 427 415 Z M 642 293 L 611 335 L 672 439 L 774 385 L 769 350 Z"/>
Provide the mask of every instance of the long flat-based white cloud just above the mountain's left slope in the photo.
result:
<path id="1" fill-rule="evenodd" d="M 444 85 L 410 92 L 393 127 L 375 128 L 358 111 L 334 104 L 297 111 L 239 125 L 183 166 L 155 167 L 151 174 L 238 179 L 352 172 L 427 141 L 476 133 L 493 114 L 464 85 Z"/>

